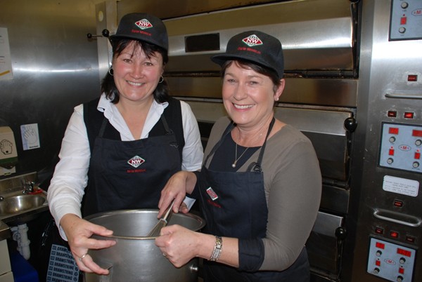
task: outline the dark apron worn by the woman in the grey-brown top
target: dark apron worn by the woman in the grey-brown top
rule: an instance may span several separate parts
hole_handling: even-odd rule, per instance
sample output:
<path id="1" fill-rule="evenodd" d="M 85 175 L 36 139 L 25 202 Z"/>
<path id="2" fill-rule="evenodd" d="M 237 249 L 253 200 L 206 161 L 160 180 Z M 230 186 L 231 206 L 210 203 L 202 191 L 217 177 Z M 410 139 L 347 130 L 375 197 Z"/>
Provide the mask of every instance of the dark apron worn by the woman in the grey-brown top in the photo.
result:
<path id="1" fill-rule="evenodd" d="M 269 126 L 267 137 L 273 125 L 274 119 Z M 257 162 L 251 163 L 246 172 L 214 171 L 205 167 L 209 157 L 222 145 L 233 127 L 234 124 L 231 123 L 226 128 L 222 139 L 205 159 L 198 177 L 200 201 L 207 222 L 204 232 L 238 239 L 264 238 L 267 231 L 268 209 L 261 163 L 267 137 L 260 149 Z M 224 245 L 222 251 L 224 252 Z M 305 248 L 298 260 L 285 271 L 246 272 L 218 262 L 204 261 L 203 276 L 206 282 L 305 282 L 309 281 L 309 262 Z"/>

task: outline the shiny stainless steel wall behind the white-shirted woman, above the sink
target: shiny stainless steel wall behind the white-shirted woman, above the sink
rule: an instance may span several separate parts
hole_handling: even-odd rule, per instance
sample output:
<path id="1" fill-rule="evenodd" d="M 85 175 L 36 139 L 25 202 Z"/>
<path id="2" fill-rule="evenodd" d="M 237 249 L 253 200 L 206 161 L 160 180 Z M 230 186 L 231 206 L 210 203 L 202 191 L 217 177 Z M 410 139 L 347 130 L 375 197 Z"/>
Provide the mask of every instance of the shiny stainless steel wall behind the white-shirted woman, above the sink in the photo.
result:
<path id="1" fill-rule="evenodd" d="M 14 175 L 49 177 L 73 107 L 100 95 L 94 0 L 0 0 L 13 78 L 0 76 L 0 126 L 15 135 Z M 0 54 L 1 55 L 1 54 Z M 37 149 L 23 149 L 20 126 L 37 123 Z M 5 176 L 0 179 L 6 178 Z"/>

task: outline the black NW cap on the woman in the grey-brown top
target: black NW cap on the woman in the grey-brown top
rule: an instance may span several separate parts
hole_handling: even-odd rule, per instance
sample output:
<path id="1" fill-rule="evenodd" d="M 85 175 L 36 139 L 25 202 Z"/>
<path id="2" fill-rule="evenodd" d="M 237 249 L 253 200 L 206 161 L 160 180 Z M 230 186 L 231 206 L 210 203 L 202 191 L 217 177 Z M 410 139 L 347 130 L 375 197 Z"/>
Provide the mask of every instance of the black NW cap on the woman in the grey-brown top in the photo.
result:
<path id="1" fill-rule="evenodd" d="M 227 43 L 226 53 L 211 57 L 213 62 L 223 65 L 227 60 L 248 60 L 274 70 L 281 79 L 284 72 L 283 48 L 276 37 L 251 30 L 237 34 Z"/>

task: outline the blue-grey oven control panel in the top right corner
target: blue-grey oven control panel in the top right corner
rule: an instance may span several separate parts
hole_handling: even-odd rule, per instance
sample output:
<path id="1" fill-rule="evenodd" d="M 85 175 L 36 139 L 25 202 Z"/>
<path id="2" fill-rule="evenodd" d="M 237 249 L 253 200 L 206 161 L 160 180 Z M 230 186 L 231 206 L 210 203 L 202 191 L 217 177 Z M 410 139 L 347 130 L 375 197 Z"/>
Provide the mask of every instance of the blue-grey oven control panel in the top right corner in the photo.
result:
<path id="1" fill-rule="evenodd" d="M 421 0 L 392 0 L 390 40 L 422 38 Z"/>

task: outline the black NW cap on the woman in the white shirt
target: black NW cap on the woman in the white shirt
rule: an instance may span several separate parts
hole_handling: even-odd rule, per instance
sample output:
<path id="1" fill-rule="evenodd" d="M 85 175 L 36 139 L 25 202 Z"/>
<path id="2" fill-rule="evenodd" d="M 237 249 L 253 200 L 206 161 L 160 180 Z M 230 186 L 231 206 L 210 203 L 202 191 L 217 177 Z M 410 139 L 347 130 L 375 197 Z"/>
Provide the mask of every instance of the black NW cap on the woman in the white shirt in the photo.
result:
<path id="1" fill-rule="evenodd" d="M 166 51 L 169 50 L 167 29 L 159 18 L 147 13 L 130 13 L 120 20 L 117 32 L 110 36 L 110 41 L 116 39 L 135 39 L 153 43 Z"/>

